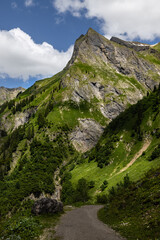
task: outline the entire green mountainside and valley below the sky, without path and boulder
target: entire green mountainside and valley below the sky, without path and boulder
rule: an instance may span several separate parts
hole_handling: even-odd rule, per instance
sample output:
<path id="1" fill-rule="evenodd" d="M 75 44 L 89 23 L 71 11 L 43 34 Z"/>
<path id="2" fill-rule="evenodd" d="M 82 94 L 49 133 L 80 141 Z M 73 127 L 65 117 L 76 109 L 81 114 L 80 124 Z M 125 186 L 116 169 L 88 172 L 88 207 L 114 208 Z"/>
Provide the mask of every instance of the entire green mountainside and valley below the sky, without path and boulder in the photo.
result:
<path id="1" fill-rule="evenodd" d="M 160 43 L 89 29 L 60 73 L 0 106 L 0 137 L 1 239 L 40 239 L 42 198 L 105 204 L 126 239 L 160 239 Z"/>

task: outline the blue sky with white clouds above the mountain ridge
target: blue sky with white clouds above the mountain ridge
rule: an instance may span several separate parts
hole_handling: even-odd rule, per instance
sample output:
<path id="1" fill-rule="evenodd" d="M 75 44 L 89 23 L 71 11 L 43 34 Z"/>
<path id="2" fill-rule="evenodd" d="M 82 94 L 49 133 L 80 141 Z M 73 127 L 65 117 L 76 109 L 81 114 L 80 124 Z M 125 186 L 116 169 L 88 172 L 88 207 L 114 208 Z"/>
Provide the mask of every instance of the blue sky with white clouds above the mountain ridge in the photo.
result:
<path id="1" fill-rule="evenodd" d="M 89 27 L 157 43 L 159 9 L 159 0 L 0 0 L 0 86 L 28 88 L 54 75 Z"/>

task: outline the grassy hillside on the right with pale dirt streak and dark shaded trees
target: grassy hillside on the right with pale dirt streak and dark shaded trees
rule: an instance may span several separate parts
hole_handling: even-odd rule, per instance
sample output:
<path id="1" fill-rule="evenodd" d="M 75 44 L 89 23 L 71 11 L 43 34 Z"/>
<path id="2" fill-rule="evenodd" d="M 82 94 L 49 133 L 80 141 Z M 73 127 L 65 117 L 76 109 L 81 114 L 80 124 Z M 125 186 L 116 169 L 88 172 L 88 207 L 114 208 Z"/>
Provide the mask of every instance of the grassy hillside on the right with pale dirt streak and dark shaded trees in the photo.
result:
<path id="1" fill-rule="evenodd" d="M 96 147 L 68 167 L 71 182 L 95 181 L 90 190 L 93 201 L 101 193 L 105 180 L 116 186 L 126 174 L 132 181 L 140 179 L 151 168 L 160 166 L 160 90 L 155 90 L 136 105 L 121 113 L 105 129 Z"/>

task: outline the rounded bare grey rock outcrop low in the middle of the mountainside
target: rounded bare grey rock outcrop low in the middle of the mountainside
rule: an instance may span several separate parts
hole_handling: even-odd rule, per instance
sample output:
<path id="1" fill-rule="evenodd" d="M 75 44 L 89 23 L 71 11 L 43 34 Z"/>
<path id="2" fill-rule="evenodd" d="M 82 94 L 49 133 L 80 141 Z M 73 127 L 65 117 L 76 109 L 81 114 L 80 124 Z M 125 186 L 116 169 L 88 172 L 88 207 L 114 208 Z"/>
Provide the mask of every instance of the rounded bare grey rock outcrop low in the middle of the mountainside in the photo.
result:
<path id="1" fill-rule="evenodd" d="M 79 126 L 69 137 L 75 149 L 83 153 L 96 145 L 103 130 L 104 128 L 93 119 L 79 119 Z"/>

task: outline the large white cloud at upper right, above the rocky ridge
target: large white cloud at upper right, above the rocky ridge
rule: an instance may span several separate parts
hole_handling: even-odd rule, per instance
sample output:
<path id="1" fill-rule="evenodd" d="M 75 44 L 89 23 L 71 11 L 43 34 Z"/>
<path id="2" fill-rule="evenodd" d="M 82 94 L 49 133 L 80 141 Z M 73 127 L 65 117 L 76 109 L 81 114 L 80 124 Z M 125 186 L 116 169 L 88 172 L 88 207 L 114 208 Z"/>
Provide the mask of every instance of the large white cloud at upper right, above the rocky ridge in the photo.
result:
<path id="1" fill-rule="evenodd" d="M 154 40 L 160 37 L 159 0 L 53 0 L 60 12 L 80 16 L 85 10 L 86 18 L 98 18 L 108 37 Z"/>

